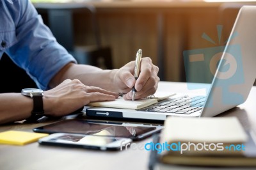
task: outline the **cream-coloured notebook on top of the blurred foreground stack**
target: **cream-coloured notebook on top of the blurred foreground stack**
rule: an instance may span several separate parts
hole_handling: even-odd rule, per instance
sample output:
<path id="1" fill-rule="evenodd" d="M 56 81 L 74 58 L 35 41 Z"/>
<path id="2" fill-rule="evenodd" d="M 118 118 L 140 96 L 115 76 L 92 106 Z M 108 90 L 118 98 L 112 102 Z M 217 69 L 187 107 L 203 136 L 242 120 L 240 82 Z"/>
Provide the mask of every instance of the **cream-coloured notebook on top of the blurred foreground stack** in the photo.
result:
<path id="1" fill-rule="evenodd" d="M 247 135 L 236 117 L 169 117 L 164 122 L 164 127 L 161 141 L 244 143 L 247 139 Z"/>

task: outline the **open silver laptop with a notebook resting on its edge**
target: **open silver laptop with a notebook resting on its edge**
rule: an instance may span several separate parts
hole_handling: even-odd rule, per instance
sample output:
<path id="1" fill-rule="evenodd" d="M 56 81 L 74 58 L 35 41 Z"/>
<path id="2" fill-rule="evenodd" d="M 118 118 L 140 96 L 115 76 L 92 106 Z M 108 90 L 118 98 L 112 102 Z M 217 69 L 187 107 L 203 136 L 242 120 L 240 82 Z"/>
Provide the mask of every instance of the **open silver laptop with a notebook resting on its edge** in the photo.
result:
<path id="1" fill-rule="evenodd" d="M 239 10 L 227 45 L 211 59 L 216 68 L 212 83 L 195 87 L 208 89 L 207 95 L 178 94 L 139 110 L 88 107 L 86 116 L 164 121 L 167 116 L 212 117 L 243 104 L 256 78 L 255 20 L 256 6 Z"/>

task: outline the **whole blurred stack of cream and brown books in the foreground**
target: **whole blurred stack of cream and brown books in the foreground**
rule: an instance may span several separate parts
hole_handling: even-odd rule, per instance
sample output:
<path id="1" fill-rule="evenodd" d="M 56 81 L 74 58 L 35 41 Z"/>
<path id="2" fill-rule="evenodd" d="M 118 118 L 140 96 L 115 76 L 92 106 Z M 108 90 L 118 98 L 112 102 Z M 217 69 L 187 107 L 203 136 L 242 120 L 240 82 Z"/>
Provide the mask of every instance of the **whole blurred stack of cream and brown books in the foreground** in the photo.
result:
<path id="1" fill-rule="evenodd" d="M 159 139 L 160 144 L 169 144 L 169 150 L 162 146 L 159 161 L 186 166 L 256 166 L 252 136 L 236 117 L 170 117 Z"/>

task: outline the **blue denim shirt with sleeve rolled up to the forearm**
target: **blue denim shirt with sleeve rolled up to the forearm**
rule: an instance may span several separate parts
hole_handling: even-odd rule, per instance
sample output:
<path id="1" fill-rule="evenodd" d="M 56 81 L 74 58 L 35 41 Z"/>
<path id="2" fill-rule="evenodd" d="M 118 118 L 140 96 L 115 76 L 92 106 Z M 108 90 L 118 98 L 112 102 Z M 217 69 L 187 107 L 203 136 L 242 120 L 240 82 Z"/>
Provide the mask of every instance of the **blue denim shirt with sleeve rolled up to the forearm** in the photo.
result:
<path id="1" fill-rule="evenodd" d="M 76 63 L 29 0 L 0 1 L 0 59 L 3 52 L 41 89 L 48 89 L 49 81 L 67 63 Z"/>

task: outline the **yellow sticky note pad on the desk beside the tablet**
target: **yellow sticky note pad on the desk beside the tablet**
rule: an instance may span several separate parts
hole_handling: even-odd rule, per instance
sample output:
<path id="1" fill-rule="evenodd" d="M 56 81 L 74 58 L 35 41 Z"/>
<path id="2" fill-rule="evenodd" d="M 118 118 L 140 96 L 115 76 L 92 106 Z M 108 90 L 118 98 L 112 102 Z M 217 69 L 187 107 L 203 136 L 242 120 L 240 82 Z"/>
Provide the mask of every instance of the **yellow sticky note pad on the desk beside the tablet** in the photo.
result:
<path id="1" fill-rule="evenodd" d="M 10 130 L 0 133 L 0 144 L 15 144 L 15 145 L 24 145 L 28 143 L 33 143 L 45 137 L 49 134 L 38 134 L 33 132 L 22 132 Z"/>

